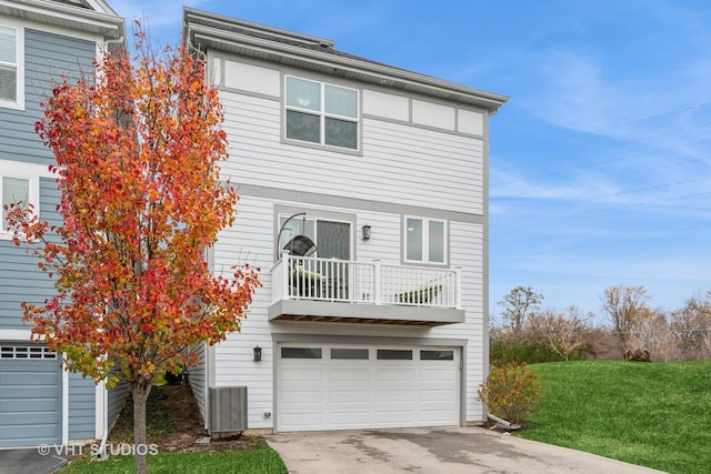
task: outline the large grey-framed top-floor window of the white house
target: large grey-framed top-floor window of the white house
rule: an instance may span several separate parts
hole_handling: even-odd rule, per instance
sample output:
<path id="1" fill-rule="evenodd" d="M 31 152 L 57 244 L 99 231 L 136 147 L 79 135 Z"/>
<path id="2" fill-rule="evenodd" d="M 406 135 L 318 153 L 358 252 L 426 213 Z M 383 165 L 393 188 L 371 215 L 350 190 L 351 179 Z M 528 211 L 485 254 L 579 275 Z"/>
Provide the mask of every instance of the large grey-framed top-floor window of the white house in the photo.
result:
<path id="1" fill-rule="evenodd" d="M 358 91 L 287 77 L 287 139 L 358 150 Z"/>

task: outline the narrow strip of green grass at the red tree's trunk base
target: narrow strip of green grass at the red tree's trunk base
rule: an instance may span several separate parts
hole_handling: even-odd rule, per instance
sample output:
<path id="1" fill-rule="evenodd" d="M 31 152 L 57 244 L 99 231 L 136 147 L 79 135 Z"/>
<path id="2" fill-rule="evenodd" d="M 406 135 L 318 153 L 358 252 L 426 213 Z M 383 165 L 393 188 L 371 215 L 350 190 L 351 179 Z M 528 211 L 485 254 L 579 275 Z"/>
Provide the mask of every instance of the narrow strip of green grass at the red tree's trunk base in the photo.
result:
<path id="1" fill-rule="evenodd" d="M 147 456 L 151 474 L 213 474 L 254 473 L 287 474 L 281 457 L 266 442 L 251 450 L 159 453 Z M 61 474 L 131 474 L 136 470 L 133 456 L 110 456 L 107 461 L 73 461 Z"/>

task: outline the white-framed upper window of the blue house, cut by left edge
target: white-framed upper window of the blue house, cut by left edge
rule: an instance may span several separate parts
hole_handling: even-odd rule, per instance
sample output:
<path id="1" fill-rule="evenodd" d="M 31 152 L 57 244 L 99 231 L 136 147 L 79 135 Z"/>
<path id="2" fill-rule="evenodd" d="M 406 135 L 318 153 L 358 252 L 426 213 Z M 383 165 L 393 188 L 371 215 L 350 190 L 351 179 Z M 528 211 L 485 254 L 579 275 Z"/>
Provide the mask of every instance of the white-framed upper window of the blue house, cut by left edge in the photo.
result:
<path id="1" fill-rule="evenodd" d="M 0 107 L 24 109 L 24 30 L 0 24 Z"/>

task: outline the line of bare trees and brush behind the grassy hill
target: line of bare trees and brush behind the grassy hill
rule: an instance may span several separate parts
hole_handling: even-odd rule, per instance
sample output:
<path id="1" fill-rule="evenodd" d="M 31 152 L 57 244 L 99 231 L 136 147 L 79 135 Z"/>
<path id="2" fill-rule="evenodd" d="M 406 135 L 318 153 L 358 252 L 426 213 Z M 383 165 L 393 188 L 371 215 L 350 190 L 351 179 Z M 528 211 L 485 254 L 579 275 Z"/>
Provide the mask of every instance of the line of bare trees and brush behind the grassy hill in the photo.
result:
<path id="1" fill-rule="evenodd" d="M 605 323 L 574 305 L 543 311 L 542 294 L 512 289 L 499 301 L 502 324 L 491 329 L 492 364 L 623 359 L 637 350 L 652 361 L 711 359 L 711 291 L 674 311 L 650 307 L 643 286 L 610 286 L 600 300 Z"/>

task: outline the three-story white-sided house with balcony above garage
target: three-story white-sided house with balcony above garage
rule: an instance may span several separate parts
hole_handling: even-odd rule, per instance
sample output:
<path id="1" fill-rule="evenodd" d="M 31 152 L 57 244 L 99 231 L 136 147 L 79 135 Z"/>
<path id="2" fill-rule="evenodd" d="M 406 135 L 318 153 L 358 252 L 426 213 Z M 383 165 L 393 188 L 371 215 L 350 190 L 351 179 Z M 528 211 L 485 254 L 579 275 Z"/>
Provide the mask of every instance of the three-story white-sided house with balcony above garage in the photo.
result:
<path id="1" fill-rule="evenodd" d="M 489 118 L 507 98 L 191 8 L 183 40 L 220 89 L 241 194 L 211 263 L 263 283 L 242 331 L 198 349 L 207 427 L 229 386 L 266 432 L 483 421 Z"/>

